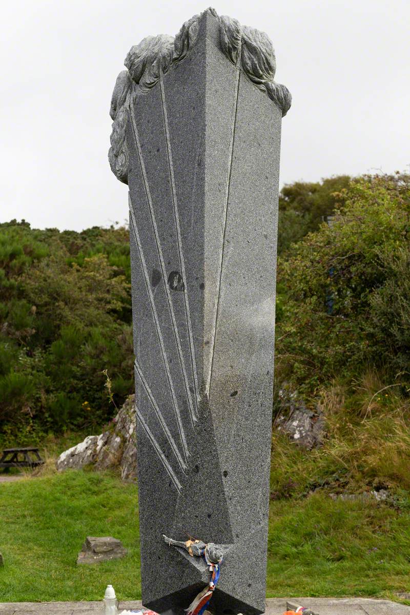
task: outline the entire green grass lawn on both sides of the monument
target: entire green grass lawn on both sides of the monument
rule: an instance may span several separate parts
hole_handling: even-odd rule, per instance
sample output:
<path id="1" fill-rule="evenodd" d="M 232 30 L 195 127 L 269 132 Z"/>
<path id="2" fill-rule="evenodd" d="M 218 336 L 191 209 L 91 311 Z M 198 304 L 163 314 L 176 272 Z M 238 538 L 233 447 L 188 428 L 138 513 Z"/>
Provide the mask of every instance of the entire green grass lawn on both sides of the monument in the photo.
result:
<path id="1" fill-rule="evenodd" d="M 85 536 L 115 536 L 128 557 L 76 565 Z M 135 485 L 96 472 L 0 484 L 0 601 L 141 596 Z M 270 504 L 267 596 L 393 597 L 410 589 L 410 512 L 326 493 Z"/>

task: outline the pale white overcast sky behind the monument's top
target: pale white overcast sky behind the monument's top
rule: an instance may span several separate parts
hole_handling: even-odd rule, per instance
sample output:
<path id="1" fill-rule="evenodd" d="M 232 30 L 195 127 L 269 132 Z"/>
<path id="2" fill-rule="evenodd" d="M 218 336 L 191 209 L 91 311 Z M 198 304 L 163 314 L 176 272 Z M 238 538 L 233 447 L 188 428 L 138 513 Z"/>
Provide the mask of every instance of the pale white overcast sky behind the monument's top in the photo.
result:
<path id="1" fill-rule="evenodd" d="M 409 0 L 216 0 L 266 31 L 283 119 L 281 185 L 410 164 Z M 81 230 L 127 218 L 109 103 L 128 49 L 175 34 L 197 1 L 1 1 L 0 221 Z"/>

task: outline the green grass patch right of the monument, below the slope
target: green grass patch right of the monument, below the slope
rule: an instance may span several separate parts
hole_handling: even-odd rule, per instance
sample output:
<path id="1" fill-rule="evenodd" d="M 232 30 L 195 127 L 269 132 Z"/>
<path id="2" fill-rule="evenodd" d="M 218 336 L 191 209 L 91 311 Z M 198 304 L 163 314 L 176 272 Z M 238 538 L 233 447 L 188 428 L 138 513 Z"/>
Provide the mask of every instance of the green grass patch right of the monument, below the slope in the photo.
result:
<path id="1" fill-rule="evenodd" d="M 410 514 L 316 493 L 270 506 L 267 596 L 394 598 L 410 589 Z"/>

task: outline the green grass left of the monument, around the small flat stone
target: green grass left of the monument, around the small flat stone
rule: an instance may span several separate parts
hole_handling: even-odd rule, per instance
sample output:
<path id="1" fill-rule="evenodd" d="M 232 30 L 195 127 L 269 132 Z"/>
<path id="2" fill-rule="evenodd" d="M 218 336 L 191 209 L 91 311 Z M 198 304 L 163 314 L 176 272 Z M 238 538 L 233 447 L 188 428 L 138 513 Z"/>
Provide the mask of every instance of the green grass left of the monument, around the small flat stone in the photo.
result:
<path id="1" fill-rule="evenodd" d="M 76 565 L 85 536 L 115 536 L 128 557 Z M 141 595 L 135 485 L 68 470 L 0 484 L 0 602 L 101 600 L 114 584 L 121 599 Z"/>

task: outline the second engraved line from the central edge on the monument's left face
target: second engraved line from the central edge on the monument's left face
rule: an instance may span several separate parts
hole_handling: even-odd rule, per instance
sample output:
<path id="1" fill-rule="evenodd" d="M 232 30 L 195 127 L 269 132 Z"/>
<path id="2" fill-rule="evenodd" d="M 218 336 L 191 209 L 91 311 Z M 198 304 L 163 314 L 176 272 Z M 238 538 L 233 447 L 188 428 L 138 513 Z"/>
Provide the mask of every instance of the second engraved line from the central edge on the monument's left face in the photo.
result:
<path id="1" fill-rule="evenodd" d="M 136 127 L 135 117 L 134 117 L 133 113 L 130 113 L 130 116 L 131 116 L 131 124 L 132 124 L 133 135 L 134 135 L 134 139 L 135 139 L 135 145 L 136 145 L 136 149 L 138 151 L 138 158 L 140 160 L 141 174 L 143 176 L 144 188 L 145 188 L 145 193 L 146 193 L 147 202 L 148 202 L 148 208 L 149 208 L 149 214 L 151 216 L 152 228 L 154 229 L 154 237 L 155 237 L 156 245 L 157 245 L 157 252 L 158 252 L 160 268 L 161 268 L 161 272 L 162 272 L 162 280 L 164 282 L 165 295 L 167 295 L 167 302 L 168 302 L 168 308 L 169 308 L 170 315 L 171 315 L 171 322 L 172 322 L 173 333 L 174 333 L 174 337 L 175 337 L 175 343 L 176 343 L 176 347 L 178 349 L 179 364 L 181 365 L 181 371 L 182 371 L 182 374 L 183 374 L 183 380 L 184 380 L 184 386 L 185 386 L 185 391 L 186 391 L 186 397 L 187 397 L 187 401 L 188 401 L 188 405 L 189 405 L 189 415 L 191 416 L 192 425 L 194 426 L 194 416 L 195 416 L 195 414 L 194 414 L 194 406 L 192 405 L 191 391 L 189 391 L 189 381 L 188 381 L 188 376 L 187 376 L 187 372 L 186 372 L 185 362 L 184 362 L 184 358 L 183 358 L 181 339 L 179 338 L 178 327 L 176 325 L 176 318 L 175 318 L 175 312 L 174 312 L 173 303 L 172 303 L 172 299 L 171 299 L 170 287 L 168 286 L 167 270 L 165 269 L 164 255 L 162 254 L 162 247 L 161 247 L 161 242 L 160 242 L 160 238 L 159 238 L 157 221 L 156 221 L 156 217 L 155 217 L 155 213 L 154 213 L 154 208 L 152 207 L 151 192 L 149 191 L 148 178 L 147 178 L 147 174 L 146 174 L 146 170 L 145 170 L 143 153 L 141 151 L 140 137 L 138 136 L 138 129 Z M 184 282 L 185 282 L 185 280 L 184 280 Z"/>

